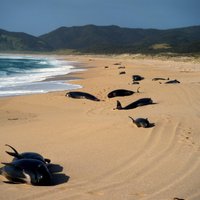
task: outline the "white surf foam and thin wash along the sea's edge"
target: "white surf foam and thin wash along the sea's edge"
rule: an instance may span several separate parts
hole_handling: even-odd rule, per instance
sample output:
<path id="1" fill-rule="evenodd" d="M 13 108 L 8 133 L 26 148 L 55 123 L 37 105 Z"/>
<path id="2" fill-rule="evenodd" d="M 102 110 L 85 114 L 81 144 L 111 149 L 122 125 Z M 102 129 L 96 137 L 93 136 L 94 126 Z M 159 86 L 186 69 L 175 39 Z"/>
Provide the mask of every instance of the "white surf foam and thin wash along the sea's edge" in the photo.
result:
<path id="1" fill-rule="evenodd" d="M 75 85 L 73 84 L 74 80 L 78 80 L 79 78 L 76 77 L 76 73 L 78 74 L 79 72 L 82 72 L 84 70 L 86 70 L 86 67 L 83 66 L 82 63 L 78 63 L 75 60 L 66 60 L 63 59 L 61 57 L 56 57 L 54 56 L 37 56 L 37 55 L 32 55 L 31 57 L 29 55 L 4 55 L 7 58 L 13 58 L 13 59 L 22 59 L 22 58 L 27 58 L 27 59 L 31 59 L 31 60 L 36 60 L 40 59 L 42 60 L 42 62 L 47 62 L 47 64 L 49 64 L 49 68 L 44 66 L 44 68 L 42 69 L 49 69 L 50 73 L 51 72 L 51 62 L 61 62 L 61 63 L 57 63 L 54 64 L 55 68 L 56 67 L 62 67 L 61 70 L 63 70 L 63 67 L 66 66 L 72 66 L 72 69 L 69 69 L 71 72 L 67 73 L 63 73 L 60 74 L 61 72 L 55 72 L 58 73 L 58 75 L 53 75 L 53 76 L 49 76 L 49 74 L 47 74 L 48 76 L 44 79 L 44 80 L 33 80 L 32 82 L 27 82 L 25 81 L 26 84 L 20 84 L 20 85 L 14 85 L 14 86 L 5 86 L 1 88 L 1 96 L 0 98 L 5 98 L 5 97 L 12 97 L 12 96 L 24 96 L 24 95 L 32 95 L 32 94 L 42 94 L 42 93 L 48 93 L 48 92 L 56 92 L 56 91 L 63 91 L 63 90 L 70 90 L 70 89 L 78 89 L 81 86 L 80 85 Z M 44 60 L 44 61 L 43 61 Z M 54 61 L 55 60 L 55 61 Z M 65 62 L 67 61 L 67 63 L 65 64 Z M 64 63 L 63 63 L 64 62 Z M 34 69 L 34 66 L 33 66 Z M 32 77 L 32 71 L 30 70 L 29 72 L 30 77 Z M 46 74 L 44 74 L 43 76 L 45 76 Z M 22 74 L 22 77 L 25 76 L 25 74 Z M 38 76 L 41 76 L 41 73 L 39 73 Z M 16 79 L 18 77 L 16 76 Z M 8 81 L 10 80 L 10 77 L 8 77 Z M 14 92 L 16 91 L 16 92 Z M 7 92 L 7 93 L 6 93 Z"/>

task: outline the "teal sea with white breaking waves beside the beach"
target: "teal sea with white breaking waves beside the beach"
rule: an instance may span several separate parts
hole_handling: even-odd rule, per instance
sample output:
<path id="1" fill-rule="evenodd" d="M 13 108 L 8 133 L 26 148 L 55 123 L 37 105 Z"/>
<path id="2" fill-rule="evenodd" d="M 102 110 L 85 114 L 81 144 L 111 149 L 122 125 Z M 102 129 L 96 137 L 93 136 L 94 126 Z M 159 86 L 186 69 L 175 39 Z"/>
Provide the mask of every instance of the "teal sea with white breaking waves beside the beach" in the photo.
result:
<path id="1" fill-rule="evenodd" d="M 0 55 L 0 97 L 81 88 L 66 80 L 46 79 L 81 71 L 75 62 L 50 57 Z M 46 81 L 45 81 L 46 80 Z"/>

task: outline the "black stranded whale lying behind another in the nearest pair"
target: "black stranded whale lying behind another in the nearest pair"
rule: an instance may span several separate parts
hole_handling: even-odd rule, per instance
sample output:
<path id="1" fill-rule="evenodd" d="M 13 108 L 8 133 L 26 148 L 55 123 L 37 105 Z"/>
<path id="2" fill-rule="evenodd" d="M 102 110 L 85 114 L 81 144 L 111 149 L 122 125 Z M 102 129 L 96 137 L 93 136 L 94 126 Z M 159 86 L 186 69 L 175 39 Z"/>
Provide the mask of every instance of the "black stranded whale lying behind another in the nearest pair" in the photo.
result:
<path id="1" fill-rule="evenodd" d="M 6 144 L 6 146 L 10 147 L 14 152 L 9 152 L 6 151 L 7 154 L 9 154 L 10 156 L 13 156 L 13 161 L 15 160 L 19 160 L 19 159 L 36 159 L 36 160 L 40 160 L 41 162 L 47 164 L 50 163 L 51 160 L 48 158 L 44 158 L 42 155 L 40 155 L 39 153 L 35 153 L 35 152 L 24 152 L 24 153 L 18 153 L 17 150 Z"/>

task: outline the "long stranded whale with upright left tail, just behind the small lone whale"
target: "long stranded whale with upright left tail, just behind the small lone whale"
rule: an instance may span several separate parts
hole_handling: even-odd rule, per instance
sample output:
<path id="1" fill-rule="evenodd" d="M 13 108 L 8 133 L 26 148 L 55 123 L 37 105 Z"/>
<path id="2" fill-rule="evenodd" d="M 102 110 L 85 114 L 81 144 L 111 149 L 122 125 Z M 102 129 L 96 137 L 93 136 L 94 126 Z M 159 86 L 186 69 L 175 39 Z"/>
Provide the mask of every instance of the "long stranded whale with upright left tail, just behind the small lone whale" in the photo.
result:
<path id="1" fill-rule="evenodd" d="M 129 109 L 134 109 L 140 106 L 145 106 L 145 105 L 149 105 L 149 104 L 154 104 L 151 98 L 142 98 L 142 99 L 138 99 L 137 101 L 134 101 L 133 103 L 122 107 L 120 101 L 117 101 L 117 110 L 129 110 Z"/>

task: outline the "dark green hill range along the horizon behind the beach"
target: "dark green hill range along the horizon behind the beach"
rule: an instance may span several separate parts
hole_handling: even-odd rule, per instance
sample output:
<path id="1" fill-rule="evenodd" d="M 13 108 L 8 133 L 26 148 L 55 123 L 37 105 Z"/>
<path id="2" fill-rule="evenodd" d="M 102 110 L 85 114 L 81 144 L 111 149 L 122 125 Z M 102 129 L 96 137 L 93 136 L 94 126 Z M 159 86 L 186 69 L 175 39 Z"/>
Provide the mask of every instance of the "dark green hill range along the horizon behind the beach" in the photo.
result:
<path id="1" fill-rule="evenodd" d="M 0 30 L 0 51 L 199 53 L 200 26 L 157 30 L 118 26 L 61 27 L 40 37 Z"/>

